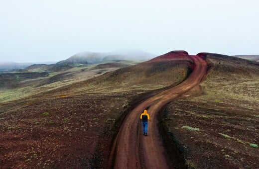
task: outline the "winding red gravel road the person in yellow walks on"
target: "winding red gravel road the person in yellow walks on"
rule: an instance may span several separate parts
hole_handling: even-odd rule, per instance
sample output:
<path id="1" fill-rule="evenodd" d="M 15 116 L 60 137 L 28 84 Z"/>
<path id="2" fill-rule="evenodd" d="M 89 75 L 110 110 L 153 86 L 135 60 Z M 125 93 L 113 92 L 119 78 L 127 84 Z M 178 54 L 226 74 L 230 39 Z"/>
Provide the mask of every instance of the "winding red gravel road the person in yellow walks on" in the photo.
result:
<path id="1" fill-rule="evenodd" d="M 168 102 L 198 86 L 207 74 L 207 62 L 199 56 L 189 56 L 194 61 L 191 75 L 183 83 L 166 89 L 138 104 L 125 118 L 114 141 L 109 168 L 116 169 L 166 169 L 173 168 L 159 136 L 157 113 Z M 167 58 L 168 59 L 168 58 Z M 142 132 L 140 114 L 145 108 L 150 115 L 148 135 Z"/>

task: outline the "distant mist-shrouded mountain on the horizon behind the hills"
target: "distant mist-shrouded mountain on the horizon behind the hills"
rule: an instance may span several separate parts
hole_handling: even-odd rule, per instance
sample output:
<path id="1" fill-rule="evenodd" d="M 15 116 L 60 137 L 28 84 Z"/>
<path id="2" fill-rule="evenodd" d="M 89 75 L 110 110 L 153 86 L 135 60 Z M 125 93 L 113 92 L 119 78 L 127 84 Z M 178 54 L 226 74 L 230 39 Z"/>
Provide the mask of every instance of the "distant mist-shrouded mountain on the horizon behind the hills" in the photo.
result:
<path id="1" fill-rule="evenodd" d="M 98 64 L 112 60 L 149 60 L 156 55 L 141 50 L 118 50 L 113 52 L 80 52 L 58 63 Z"/>

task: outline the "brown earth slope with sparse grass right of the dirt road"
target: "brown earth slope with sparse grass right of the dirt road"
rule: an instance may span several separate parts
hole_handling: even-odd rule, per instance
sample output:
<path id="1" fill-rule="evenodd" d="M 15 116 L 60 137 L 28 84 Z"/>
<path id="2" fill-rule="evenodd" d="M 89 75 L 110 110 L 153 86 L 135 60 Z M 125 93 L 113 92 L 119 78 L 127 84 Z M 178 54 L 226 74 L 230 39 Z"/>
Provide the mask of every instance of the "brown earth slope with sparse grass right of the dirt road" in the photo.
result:
<path id="1" fill-rule="evenodd" d="M 259 64 L 199 55 L 210 67 L 200 86 L 202 94 L 186 93 L 161 111 L 159 126 L 169 154 L 188 168 L 258 168 Z"/>

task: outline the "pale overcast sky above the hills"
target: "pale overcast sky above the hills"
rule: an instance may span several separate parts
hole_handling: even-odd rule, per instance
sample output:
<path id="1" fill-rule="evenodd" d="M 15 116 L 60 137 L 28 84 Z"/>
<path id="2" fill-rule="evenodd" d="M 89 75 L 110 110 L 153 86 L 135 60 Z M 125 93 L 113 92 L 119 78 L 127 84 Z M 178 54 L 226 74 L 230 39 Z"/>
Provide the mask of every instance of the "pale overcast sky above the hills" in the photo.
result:
<path id="1" fill-rule="evenodd" d="M 258 0 L 1 0 L 0 62 L 82 51 L 259 54 Z"/>

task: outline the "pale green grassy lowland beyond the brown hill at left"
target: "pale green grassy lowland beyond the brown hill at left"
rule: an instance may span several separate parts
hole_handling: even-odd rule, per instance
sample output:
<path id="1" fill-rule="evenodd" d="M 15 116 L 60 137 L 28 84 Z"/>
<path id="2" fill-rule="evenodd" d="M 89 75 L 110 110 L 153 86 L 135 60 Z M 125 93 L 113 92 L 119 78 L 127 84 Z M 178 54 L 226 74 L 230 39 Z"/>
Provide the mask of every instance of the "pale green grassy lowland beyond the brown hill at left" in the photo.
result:
<path id="1" fill-rule="evenodd" d="M 2 73 L 0 74 L 0 103 L 26 98 L 67 84 L 85 81 L 136 63 L 139 62 L 125 61 L 121 63 L 121 61 L 113 61 L 109 64 L 78 65 L 72 68 L 55 65 L 55 70 L 59 70 L 55 72 L 51 71 L 53 65 L 31 65 L 27 67 L 27 72 Z M 107 64 L 110 66 L 107 67 Z"/>

